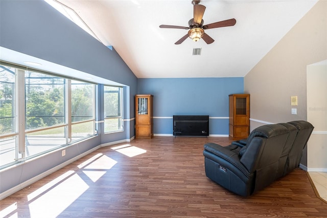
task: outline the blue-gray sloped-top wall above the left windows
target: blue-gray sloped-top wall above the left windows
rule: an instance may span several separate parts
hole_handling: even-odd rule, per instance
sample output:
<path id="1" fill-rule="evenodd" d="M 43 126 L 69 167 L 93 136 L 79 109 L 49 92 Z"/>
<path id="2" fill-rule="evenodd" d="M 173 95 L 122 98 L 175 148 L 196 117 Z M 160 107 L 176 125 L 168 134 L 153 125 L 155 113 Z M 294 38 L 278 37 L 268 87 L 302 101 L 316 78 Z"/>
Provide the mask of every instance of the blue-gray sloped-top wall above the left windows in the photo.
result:
<path id="1" fill-rule="evenodd" d="M 128 85 L 134 98 L 137 78 L 119 54 L 48 3 L 5 0 L 0 10 L 0 46 Z"/>

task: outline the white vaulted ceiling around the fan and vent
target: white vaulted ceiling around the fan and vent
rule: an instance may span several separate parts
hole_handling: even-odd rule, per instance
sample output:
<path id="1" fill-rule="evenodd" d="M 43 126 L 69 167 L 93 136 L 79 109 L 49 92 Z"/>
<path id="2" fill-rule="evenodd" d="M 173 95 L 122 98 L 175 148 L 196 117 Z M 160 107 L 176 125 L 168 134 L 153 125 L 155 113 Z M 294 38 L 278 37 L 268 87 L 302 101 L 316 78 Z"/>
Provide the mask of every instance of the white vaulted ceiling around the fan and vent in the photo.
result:
<path id="1" fill-rule="evenodd" d="M 244 77 L 317 1 L 202 0 L 204 24 L 235 18 L 232 27 L 205 30 L 207 45 L 187 38 L 191 0 L 59 0 L 75 10 L 106 46 L 113 46 L 138 78 Z M 193 55 L 201 48 L 201 55 Z"/>

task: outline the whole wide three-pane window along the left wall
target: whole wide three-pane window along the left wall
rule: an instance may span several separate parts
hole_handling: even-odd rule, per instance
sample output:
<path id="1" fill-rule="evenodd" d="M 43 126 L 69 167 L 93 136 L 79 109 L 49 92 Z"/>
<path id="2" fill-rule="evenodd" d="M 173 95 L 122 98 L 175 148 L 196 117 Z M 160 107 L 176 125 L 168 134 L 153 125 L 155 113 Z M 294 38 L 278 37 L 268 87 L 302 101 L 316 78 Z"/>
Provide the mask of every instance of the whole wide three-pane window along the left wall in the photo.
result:
<path id="1" fill-rule="evenodd" d="M 95 88 L 0 65 L 0 168 L 94 136 Z"/>

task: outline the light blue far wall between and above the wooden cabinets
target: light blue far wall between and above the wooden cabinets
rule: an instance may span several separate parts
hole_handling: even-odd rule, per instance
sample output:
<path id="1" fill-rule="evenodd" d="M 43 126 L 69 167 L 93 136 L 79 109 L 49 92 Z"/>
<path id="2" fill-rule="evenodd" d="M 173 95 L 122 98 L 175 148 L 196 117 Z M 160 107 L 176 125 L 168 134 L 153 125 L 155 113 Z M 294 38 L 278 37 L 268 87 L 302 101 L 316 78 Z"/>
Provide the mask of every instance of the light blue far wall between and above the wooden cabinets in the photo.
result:
<path id="1" fill-rule="evenodd" d="M 173 115 L 209 115 L 209 134 L 228 135 L 228 95 L 243 93 L 243 77 L 138 79 L 153 95 L 154 134 L 173 134 Z"/>

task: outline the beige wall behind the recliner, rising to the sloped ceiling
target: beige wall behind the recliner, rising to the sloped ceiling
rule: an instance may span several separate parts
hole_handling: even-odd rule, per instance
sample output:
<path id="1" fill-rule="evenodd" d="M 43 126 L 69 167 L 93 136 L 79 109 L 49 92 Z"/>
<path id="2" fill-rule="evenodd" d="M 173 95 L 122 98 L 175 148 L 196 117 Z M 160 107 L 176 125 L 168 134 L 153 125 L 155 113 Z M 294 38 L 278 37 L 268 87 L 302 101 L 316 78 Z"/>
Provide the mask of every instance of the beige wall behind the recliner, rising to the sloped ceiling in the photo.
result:
<path id="1" fill-rule="evenodd" d="M 251 130 L 263 125 L 261 121 L 307 120 L 307 65 L 327 58 L 326 20 L 327 1 L 319 1 L 245 76 L 244 91 L 251 95 Z M 297 106 L 291 106 L 291 96 L 298 97 Z M 291 114 L 292 107 L 297 115 Z M 306 158 L 305 150 L 303 165 Z"/>

